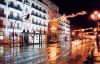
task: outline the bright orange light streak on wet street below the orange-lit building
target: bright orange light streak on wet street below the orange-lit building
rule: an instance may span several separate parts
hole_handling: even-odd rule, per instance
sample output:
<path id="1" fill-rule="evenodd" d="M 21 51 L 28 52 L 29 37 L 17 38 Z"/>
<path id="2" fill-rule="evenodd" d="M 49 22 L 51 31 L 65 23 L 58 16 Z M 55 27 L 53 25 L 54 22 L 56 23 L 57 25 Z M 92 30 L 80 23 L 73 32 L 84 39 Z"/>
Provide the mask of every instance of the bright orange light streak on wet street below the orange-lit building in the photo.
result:
<path id="1" fill-rule="evenodd" d="M 60 47 L 57 44 L 52 44 L 48 48 L 48 62 L 50 64 L 57 64 L 57 58 L 60 57 Z"/>

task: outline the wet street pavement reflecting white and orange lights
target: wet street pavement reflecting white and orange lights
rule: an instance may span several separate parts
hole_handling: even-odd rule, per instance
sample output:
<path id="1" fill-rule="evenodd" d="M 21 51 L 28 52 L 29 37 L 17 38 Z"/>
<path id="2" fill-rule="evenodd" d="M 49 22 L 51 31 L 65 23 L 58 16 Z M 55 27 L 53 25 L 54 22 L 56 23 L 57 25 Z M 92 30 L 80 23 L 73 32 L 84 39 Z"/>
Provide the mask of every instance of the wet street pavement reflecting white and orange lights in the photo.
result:
<path id="1" fill-rule="evenodd" d="M 79 42 L 81 43 L 82 41 L 77 43 Z M 83 61 L 88 56 L 90 48 L 90 45 L 87 46 L 88 44 L 90 44 L 89 41 L 87 41 L 87 44 L 78 44 L 78 47 L 73 48 L 70 48 L 70 42 L 23 47 L 1 45 L 0 64 L 83 64 Z M 93 63 L 96 64 L 95 61 Z"/>

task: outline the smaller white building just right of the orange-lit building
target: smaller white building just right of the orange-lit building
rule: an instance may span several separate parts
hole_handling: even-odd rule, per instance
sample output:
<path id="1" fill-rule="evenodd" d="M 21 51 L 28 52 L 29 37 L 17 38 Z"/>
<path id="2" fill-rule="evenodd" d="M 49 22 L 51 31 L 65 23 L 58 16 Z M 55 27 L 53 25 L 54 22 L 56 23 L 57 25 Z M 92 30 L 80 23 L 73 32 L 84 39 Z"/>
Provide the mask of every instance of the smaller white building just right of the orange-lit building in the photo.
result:
<path id="1" fill-rule="evenodd" d="M 70 46 L 70 20 L 68 19 L 59 21 L 59 40 L 65 44 L 64 46 Z"/>

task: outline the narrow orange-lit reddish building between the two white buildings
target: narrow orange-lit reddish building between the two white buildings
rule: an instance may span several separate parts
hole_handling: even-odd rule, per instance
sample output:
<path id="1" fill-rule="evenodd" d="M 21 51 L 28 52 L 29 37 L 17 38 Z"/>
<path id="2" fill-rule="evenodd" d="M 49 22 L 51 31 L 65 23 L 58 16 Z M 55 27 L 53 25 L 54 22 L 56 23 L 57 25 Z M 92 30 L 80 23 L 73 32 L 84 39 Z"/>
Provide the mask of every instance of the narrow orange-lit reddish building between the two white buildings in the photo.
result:
<path id="1" fill-rule="evenodd" d="M 58 21 L 54 20 L 59 15 L 59 7 L 55 5 L 51 0 L 42 0 L 48 6 L 48 43 L 57 42 L 58 40 Z"/>

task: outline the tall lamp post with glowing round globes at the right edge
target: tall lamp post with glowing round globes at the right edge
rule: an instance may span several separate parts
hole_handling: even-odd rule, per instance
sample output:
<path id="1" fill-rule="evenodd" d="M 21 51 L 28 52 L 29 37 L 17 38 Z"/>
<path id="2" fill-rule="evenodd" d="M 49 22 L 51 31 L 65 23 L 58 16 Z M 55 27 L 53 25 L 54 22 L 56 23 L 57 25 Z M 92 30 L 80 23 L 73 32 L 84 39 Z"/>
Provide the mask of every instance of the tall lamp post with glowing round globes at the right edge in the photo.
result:
<path id="1" fill-rule="evenodd" d="M 97 34 L 96 34 L 96 44 L 97 44 L 97 48 L 99 48 L 99 39 L 98 39 L 98 31 L 99 31 L 99 20 L 100 20 L 100 12 L 99 11 L 94 11 L 92 14 L 91 14 L 91 18 L 92 20 L 95 20 L 97 21 Z"/>

